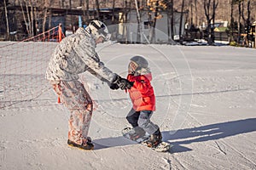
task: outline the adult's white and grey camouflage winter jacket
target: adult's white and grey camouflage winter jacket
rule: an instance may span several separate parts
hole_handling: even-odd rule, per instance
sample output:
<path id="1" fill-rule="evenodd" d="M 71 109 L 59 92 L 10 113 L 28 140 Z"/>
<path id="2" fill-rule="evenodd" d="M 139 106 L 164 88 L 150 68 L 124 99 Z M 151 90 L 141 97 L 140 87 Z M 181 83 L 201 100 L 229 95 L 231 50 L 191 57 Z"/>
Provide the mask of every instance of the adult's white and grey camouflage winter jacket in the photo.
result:
<path id="1" fill-rule="evenodd" d="M 95 51 L 96 42 L 83 28 L 65 37 L 49 59 L 46 79 L 72 81 L 79 73 L 90 71 L 105 82 L 113 82 L 115 74 L 103 65 Z"/>

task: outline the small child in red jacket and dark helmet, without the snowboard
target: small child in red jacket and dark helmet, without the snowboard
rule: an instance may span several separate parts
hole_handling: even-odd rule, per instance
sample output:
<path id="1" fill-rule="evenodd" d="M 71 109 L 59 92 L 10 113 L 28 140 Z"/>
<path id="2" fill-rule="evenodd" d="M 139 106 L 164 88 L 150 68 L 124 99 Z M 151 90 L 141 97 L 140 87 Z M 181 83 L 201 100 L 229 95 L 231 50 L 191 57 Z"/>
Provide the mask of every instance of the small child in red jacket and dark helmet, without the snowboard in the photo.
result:
<path id="1" fill-rule="evenodd" d="M 151 86 L 151 71 L 148 68 L 148 61 L 142 56 L 134 56 L 128 66 L 127 80 L 133 82 L 130 94 L 132 108 L 126 116 L 134 132 L 131 139 L 138 139 L 148 133 L 148 147 L 160 144 L 162 135 L 160 127 L 150 121 L 150 117 L 155 111 L 154 88 Z"/>

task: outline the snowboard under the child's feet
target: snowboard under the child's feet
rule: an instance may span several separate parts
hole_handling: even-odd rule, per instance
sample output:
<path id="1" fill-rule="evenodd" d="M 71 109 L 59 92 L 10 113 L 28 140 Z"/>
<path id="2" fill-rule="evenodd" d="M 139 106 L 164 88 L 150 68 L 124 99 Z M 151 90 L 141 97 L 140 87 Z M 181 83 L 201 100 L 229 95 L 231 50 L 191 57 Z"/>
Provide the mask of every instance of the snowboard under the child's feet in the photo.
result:
<path id="1" fill-rule="evenodd" d="M 122 134 L 126 139 L 131 139 L 132 141 L 137 142 L 138 144 L 143 144 L 144 146 L 148 147 L 148 144 L 146 143 L 147 139 L 150 137 L 148 133 L 146 133 L 143 137 L 137 138 L 137 139 L 132 139 L 131 134 L 134 133 L 134 130 L 131 127 L 125 127 L 122 130 Z M 168 144 L 164 141 L 162 141 L 160 144 L 158 144 L 155 147 L 148 147 L 151 148 L 152 150 L 158 151 L 158 152 L 166 152 L 170 150 L 172 147 L 172 144 Z"/>

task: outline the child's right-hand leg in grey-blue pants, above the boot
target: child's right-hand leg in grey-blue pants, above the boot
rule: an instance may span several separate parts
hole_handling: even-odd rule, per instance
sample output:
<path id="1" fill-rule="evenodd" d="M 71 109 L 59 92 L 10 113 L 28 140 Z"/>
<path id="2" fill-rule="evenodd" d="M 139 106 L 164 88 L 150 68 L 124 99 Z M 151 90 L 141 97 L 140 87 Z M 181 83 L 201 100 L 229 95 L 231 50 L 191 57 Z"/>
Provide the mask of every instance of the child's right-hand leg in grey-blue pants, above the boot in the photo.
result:
<path id="1" fill-rule="evenodd" d="M 138 118 L 138 126 L 142 127 L 148 134 L 154 134 L 159 131 L 159 127 L 150 121 L 153 111 L 141 111 Z"/>

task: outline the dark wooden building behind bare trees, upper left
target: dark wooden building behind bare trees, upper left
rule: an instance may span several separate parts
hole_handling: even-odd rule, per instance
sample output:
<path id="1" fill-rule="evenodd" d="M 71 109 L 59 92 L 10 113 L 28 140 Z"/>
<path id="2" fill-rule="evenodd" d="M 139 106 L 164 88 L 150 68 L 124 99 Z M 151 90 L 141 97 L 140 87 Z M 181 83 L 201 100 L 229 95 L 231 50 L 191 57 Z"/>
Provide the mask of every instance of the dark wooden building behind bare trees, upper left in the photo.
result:
<path id="1" fill-rule="evenodd" d="M 0 38 L 2 40 L 19 41 L 26 37 L 36 36 L 59 24 L 62 25 L 62 31 L 64 33 L 66 31 L 75 31 L 79 26 L 79 17 L 82 18 L 83 24 L 87 24 L 90 20 L 96 18 L 96 9 L 84 11 L 81 8 L 42 8 L 9 5 L 7 6 L 8 17 L 5 16 L 5 12 L 1 9 L 3 8 L 0 8 Z M 105 21 L 118 18 L 121 10 L 121 8 L 100 9 L 100 20 Z M 32 12 L 36 13 L 34 15 L 37 15 L 37 17 L 34 16 L 32 19 Z M 86 14 L 89 15 L 89 17 L 86 17 Z M 113 17 L 113 15 L 117 17 Z M 7 27 L 6 24 L 7 20 L 9 27 Z M 113 22 L 115 21 L 118 20 L 113 20 Z M 7 28 L 9 28 L 8 36 Z"/>

